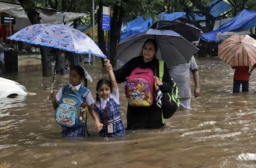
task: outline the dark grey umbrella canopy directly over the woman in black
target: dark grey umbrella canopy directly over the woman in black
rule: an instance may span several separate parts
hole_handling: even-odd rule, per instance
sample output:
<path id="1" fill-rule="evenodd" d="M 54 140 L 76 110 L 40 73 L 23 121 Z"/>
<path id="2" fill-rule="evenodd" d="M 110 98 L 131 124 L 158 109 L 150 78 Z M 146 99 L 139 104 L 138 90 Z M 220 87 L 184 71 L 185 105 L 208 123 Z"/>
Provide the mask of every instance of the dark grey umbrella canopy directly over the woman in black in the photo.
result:
<path id="1" fill-rule="evenodd" d="M 116 59 L 127 62 L 132 57 L 139 56 L 144 42 L 153 38 L 158 42 L 156 57 L 163 59 L 168 67 L 185 64 L 190 61 L 198 49 L 172 30 L 148 29 L 137 36 L 133 36 L 117 45 Z"/>

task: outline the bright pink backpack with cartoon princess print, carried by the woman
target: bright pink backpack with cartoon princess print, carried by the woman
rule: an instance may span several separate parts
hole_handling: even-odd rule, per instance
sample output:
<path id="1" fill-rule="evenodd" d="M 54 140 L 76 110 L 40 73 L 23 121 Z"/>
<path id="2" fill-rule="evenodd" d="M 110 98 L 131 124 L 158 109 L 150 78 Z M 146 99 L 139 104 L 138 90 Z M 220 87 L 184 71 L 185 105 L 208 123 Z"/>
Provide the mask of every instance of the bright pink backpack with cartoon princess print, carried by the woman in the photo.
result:
<path id="1" fill-rule="evenodd" d="M 154 73 L 137 67 L 126 78 L 126 98 L 130 106 L 151 106 L 154 99 Z"/>

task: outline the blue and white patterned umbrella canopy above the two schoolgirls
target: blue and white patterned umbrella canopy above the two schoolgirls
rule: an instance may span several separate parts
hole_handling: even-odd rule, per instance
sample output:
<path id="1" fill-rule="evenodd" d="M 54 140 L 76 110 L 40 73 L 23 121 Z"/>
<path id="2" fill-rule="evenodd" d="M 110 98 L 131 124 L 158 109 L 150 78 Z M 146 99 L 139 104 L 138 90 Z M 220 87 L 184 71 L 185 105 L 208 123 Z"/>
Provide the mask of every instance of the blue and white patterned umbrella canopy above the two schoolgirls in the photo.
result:
<path id="1" fill-rule="evenodd" d="M 77 54 L 91 53 L 93 56 L 106 58 L 92 38 L 82 31 L 63 24 L 38 23 L 30 25 L 7 39 L 58 48 Z"/>

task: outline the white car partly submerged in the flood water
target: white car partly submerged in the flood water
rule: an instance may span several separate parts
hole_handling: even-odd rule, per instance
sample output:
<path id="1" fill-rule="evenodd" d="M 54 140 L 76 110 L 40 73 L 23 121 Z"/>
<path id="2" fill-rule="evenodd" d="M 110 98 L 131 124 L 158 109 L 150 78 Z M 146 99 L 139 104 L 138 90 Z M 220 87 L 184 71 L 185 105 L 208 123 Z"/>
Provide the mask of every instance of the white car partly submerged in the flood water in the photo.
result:
<path id="1" fill-rule="evenodd" d="M 18 95 L 27 95 L 27 88 L 14 80 L 0 77 L 0 98 L 15 98 Z"/>

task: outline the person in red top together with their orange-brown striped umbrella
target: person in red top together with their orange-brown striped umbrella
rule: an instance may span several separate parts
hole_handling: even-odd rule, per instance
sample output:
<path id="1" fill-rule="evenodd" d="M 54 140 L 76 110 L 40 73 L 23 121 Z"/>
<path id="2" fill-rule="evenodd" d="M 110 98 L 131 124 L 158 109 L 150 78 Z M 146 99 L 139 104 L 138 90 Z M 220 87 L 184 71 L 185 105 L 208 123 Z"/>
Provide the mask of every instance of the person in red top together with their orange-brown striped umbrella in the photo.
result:
<path id="1" fill-rule="evenodd" d="M 218 58 L 231 65 L 234 72 L 233 93 L 248 91 L 250 65 L 256 63 L 256 40 L 249 35 L 231 35 L 218 44 Z"/>

